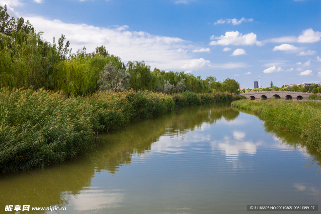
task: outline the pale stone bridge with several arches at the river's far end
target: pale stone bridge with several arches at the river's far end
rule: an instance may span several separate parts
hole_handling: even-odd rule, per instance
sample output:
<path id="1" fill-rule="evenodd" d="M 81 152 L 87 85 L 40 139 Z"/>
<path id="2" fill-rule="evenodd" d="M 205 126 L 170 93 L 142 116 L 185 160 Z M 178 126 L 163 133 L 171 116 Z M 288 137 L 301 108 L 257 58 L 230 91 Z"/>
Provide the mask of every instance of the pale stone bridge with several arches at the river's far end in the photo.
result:
<path id="1" fill-rule="evenodd" d="M 240 95 L 246 97 L 247 99 L 299 99 L 308 100 L 308 97 L 312 93 L 307 92 L 294 92 L 294 91 L 257 91 L 257 92 L 247 92 L 241 93 Z"/>

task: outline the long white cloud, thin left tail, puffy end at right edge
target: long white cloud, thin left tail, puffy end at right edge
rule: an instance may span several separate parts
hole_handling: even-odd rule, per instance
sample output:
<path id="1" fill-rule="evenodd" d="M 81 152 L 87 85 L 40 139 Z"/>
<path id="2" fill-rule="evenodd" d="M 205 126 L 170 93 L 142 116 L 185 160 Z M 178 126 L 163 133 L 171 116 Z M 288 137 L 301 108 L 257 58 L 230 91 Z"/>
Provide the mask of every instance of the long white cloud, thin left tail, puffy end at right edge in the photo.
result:
<path id="1" fill-rule="evenodd" d="M 276 43 L 283 43 L 283 42 L 299 42 L 299 43 L 315 43 L 320 41 L 321 32 L 313 31 L 312 28 L 307 30 L 303 30 L 299 37 L 295 36 L 285 36 L 273 39 L 267 39 L 264 42 L 276 42 Z"/>

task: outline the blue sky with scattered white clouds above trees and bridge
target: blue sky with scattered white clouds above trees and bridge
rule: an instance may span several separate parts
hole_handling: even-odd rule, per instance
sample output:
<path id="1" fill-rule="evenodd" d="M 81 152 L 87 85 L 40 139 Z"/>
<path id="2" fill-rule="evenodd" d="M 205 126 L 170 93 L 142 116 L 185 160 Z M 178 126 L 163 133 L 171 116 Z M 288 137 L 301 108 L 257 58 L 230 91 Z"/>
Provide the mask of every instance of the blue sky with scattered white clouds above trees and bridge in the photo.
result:
<path id="1" fill-rule="evenodd" d="M 321 82 L 321 1 L 0 0 L 73 52 L 105 45 L 128 60 L 219 81 Z"/>

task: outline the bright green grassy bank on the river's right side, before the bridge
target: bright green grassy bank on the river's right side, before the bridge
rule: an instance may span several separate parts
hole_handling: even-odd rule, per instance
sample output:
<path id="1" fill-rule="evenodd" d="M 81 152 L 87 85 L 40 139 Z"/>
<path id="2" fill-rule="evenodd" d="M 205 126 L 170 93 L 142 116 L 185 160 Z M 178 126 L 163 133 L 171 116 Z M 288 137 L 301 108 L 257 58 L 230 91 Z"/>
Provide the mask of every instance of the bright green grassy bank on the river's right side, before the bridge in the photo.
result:
<path id="1" fill-rule="evenodd" d="M 321 152 L 321 103 L 285 100 L 240 100 L 232 107 L 249 110 L 276 130 L 299 134 L 305 145 Z"/>

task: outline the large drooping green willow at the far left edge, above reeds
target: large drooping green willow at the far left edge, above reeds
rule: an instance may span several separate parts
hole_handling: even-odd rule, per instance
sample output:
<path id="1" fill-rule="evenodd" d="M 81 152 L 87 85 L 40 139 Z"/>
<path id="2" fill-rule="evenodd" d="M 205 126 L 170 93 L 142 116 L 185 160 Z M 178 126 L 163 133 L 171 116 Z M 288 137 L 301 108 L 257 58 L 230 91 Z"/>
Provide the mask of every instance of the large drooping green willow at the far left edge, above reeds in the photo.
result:
<path id="1" fill-rule="evenodd" d="M 48 57 L 39 51 L 38 44 L 48 47 L 50 44 L 42 39 L 42 34 L 19 30 L 12 31 L 11 36 L 0 33 L 0 82 L 9 87 L 44 87 Z"/>

